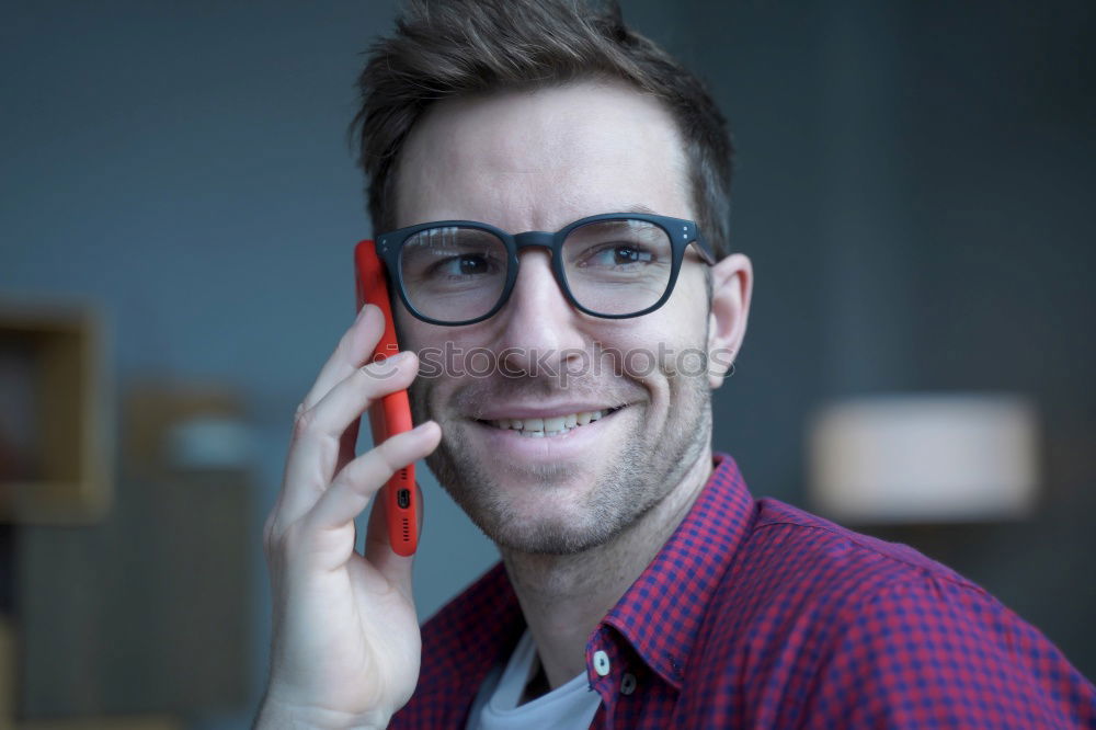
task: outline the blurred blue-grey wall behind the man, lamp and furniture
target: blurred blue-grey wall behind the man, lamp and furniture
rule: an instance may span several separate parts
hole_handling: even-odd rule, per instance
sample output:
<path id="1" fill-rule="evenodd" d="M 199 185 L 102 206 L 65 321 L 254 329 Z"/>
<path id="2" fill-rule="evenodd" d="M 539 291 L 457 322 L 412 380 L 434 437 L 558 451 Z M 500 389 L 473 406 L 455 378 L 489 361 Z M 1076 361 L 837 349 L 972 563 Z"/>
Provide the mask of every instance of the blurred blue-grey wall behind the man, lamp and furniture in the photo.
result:
<path id="1" fill-rule="evenodd" d="M 716 446 L 803 503 L 827 398 L 1019 390 L 1046 423 L 1037 520 L 912 541 L 1096 674 L 1096 12 L 1087 2 L 626 2 L 700 71 L 739 147 L 734 246 L 756 267 Z M 345 145 L 358 52 L 389 3 L 8 2 L 0 23 L 0 295 L 99 303 L 119 389 L 212 379 L 259 435 L 258 525 L 294 407 L 352 318 L 368 231 Z M 436 486 L 430 614 L 494 559 Z M 198 718 L 237 727 L 251 707 Z"/>

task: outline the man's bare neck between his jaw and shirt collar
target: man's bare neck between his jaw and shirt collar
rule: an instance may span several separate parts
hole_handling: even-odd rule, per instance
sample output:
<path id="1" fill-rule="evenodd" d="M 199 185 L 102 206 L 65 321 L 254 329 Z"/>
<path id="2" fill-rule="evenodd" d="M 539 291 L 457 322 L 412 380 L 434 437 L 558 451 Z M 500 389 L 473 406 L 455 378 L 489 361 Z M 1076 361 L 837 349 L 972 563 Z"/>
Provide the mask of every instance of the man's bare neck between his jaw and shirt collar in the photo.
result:
<path id="1" fill-rule="evenodd" d="M 710 474 L 711 450 L 705 448 L 661 502 L 613 540 L 585 552 L 502 550 L 551 688 L 585 671 L 591 631 L 670 539 Z"/>

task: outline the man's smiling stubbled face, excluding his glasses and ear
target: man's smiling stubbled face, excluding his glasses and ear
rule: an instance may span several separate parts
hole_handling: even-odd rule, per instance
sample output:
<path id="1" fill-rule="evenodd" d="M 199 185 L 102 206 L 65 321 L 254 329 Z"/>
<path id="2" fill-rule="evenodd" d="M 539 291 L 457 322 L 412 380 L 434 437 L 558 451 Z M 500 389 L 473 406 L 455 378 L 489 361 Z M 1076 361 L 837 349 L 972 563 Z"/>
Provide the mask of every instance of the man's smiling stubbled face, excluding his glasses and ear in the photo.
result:
<path id="1" fill-rule="evenodd" d="M 601 213 L 693 219 L 686 180 L 680 135 L 658 102 L 578 82 L 435 104 L 402 152 L 397 217 L 400 227 L 465 219 L 515 233 Z M 402 307 L 397 320 L 402 346 L 446 370 L 411 393 L 415 420 L 442 426 L 429 460 L 442 484 L 501 546 L 569 554 L 636 523 L 708 457 L 709 317 L 693 252 L 661 309 L 624 320 L 572 308 L 549 255 L 521 254 L 510 301 L 489 320 L 438 327 Z M 601 418 L 582 424 L 590 413 Z M 538 418 L 562 418 L 566 433 L 523 434 Z"/>

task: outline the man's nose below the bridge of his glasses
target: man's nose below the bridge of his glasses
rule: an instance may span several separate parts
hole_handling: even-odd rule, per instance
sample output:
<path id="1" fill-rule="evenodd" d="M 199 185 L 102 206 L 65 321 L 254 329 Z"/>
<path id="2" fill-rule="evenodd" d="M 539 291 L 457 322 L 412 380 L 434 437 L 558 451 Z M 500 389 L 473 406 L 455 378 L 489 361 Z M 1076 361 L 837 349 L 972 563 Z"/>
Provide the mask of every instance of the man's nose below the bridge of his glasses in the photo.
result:
<path id="1" fill-rule="evenodd" d="M 543 249 L 518 254 L 521 265 L 502 318 L 496 352 L 509 373 L 539 373 L 545 367 L 566 367 L 580 356 L 582 315 L 571 306 L 551 271 L 551 254 Z"/>

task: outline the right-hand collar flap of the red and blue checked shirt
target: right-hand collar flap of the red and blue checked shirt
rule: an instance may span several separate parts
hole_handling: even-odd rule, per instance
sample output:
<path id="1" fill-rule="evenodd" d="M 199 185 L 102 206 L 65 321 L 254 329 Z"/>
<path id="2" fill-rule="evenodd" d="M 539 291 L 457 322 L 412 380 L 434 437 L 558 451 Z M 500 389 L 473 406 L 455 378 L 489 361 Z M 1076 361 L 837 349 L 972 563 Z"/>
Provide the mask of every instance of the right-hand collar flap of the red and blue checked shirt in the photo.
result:
<path id="1" fill-rule="evenodd" d="M 713 466 L 685 520 L 602 620 L 677 691 L 708 603 L 754 518 L 734 459 L 716 454 Z"/>

